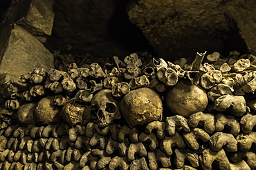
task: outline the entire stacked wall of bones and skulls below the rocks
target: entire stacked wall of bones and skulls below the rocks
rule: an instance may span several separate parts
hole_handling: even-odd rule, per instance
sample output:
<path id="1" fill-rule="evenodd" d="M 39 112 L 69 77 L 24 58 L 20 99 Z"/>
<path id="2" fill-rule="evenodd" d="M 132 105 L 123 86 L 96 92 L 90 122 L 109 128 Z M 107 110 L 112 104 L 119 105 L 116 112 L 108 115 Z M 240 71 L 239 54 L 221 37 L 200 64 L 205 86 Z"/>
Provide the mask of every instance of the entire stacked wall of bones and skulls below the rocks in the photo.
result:
<path id="1" fill-rule="evenodd" d="M 255 169 L 256 57 L 204 56 L 3 83 L 1 169 Z"/>

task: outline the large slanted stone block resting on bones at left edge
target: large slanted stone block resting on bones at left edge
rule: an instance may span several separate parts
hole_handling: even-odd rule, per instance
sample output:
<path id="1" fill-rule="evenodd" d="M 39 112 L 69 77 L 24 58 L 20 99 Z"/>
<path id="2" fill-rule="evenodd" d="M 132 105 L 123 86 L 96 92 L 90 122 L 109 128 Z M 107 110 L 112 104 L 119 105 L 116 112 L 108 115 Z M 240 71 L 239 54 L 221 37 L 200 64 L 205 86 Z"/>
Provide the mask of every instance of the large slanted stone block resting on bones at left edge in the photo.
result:
<path id="1" fill-rule="evenodd" d="M 17 82 L 21 74 L 32 72 L 37 67 L 44 67 L 47 71 L 53 68 L 53 54 L 49 52 L 32 34 L 14 25 L 10 31 L 6 48 L 1 48 L 0 74 L 9 74 L 8 78 Z"/>

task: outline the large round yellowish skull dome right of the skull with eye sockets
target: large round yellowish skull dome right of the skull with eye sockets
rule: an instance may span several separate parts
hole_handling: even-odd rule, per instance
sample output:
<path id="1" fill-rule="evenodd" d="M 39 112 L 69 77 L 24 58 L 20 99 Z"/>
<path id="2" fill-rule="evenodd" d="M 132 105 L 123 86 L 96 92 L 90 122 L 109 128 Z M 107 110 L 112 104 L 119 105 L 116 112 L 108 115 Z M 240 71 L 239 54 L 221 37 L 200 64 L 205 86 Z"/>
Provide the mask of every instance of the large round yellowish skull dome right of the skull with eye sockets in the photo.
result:
<path id="1" fill-rule="evenodd" d="M 130 126 L 162 119 L 162 100 L 153 89 L 147 87 L 131 90 L 122 98 L 120 108 Z"/>

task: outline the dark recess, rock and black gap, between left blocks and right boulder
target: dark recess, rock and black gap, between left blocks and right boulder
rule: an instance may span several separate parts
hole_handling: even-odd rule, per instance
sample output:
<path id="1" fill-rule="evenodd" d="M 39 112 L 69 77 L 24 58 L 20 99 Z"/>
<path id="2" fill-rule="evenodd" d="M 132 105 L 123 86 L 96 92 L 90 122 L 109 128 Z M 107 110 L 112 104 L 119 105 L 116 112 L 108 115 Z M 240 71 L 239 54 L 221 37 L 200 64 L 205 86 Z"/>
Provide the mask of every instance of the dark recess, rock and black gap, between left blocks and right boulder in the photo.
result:
<path id="1" fill-rule="evenodd" d="M 127 56 L 148 45 L 126 14 L 125 1 L 56 0 L 51 50 L 96 57 Z"/>

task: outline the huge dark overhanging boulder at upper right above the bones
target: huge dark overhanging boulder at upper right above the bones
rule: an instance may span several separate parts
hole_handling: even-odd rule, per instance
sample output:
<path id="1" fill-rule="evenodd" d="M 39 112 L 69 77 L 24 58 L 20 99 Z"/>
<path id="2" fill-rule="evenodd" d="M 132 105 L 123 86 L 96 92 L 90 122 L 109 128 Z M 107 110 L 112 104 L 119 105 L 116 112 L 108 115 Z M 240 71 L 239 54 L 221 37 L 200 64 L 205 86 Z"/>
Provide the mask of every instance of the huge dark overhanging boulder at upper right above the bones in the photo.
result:
<path id="1" fill-rule="evenodd" d="M 128 14 L 161 57 L 177 59 L 196 51 L 222 51 L 232 41 L 230 36 L 237 36 L 233 47 L 243 46 L 244 39 L 255 52 L 255 3 L 141 0 L 130 4 Z"/>

